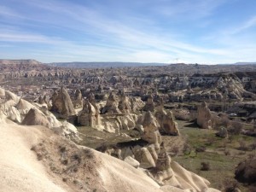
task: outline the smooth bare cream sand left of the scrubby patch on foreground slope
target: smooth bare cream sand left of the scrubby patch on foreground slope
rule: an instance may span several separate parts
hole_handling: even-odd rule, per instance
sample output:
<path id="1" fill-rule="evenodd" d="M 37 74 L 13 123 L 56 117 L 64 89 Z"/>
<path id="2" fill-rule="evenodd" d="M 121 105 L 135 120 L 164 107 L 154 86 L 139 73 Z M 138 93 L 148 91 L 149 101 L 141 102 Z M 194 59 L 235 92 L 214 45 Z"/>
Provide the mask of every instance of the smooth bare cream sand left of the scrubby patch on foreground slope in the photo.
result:
<path id="1" fill-rule="evenodd" d="M 1 124 L 0 131 L 1 191 L 64 191 L 30 150 L 40 131 L 15 124 Z"/>

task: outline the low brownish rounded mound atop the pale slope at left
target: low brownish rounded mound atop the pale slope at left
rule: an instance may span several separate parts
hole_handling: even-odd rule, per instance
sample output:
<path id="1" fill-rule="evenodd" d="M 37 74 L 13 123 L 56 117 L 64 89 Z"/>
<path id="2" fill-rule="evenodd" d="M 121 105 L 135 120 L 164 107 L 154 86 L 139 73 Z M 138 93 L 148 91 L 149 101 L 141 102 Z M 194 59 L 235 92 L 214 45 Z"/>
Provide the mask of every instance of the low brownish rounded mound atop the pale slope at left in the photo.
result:
<path id="1" fill-rule="evenodd" d="M 38 109 L 32 108 L 26 114 L 21 125 L 43 125 L 50 127 L 49 120 L 44 113 L 38 111 Z"/>

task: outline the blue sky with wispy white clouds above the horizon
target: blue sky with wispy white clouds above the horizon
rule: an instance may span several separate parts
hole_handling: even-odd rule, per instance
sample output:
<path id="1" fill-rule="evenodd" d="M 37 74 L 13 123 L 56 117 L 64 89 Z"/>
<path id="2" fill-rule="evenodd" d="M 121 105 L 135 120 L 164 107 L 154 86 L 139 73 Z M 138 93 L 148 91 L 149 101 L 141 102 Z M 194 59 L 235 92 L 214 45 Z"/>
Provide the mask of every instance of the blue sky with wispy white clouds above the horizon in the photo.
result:
<path id="1" fill-rule="evenodd" d="M 255 0 L 1 0 L 0 58 L 256 61 Z"/>

